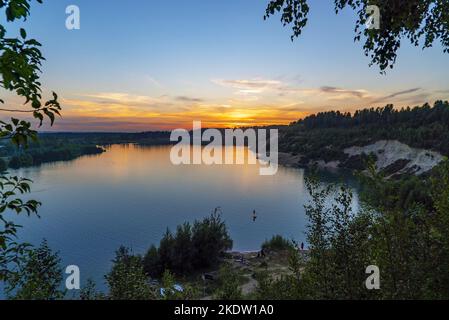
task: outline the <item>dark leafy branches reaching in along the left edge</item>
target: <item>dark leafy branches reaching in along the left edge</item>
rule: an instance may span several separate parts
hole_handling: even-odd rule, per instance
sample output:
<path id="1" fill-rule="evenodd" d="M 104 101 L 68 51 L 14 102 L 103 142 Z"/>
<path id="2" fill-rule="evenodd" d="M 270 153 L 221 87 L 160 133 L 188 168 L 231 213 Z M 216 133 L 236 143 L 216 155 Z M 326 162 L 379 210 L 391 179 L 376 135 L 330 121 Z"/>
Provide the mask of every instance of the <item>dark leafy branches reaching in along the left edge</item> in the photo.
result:
<path id="1" fill-rule="evenodd" d="M 42 0 L 36 0 L 42 3 Z M 0 10 L 4 12 L 6 23 L 26 20 L 30 14 L 31 0 L 0 0 Z M 10 30 L 8 30 L 10 31 Z M 35 39 L 29 39 L 25 29 L 18 30 L 19 37 L 8 37 L 7 29 L 0 24 L 0 88 L 3 91 L 15 92 L 25 100 L 23 109 L 0 108 L 10 113 L 30 113 L 40 124 L 44 116 L 53 124 L 55 114 L 59 115 L 61 107 L 58 96 L 53 93 L 52 99 L 42 101 L 41 83 L 39 82 L 41 65 L 44 57 Z M 5 101 L 0 98 L 0 105 Z M 31 123 L 11 118 L 10 122 L 0 121 L 0 139 L 10 139 L 19 147 L 26 147 L 30 139 L 35 140 L 37 132 Z M 27 245 L 17 240 L 19 225 L 10 221 L 6 214 L 26 212 L 37 214 L 38 201 L 23 201 L 21 195 L 30 191 L 31 181 L 20 177 L 0 176 L 0 280 L 10 273 L 11 265 L 19 262 L 19 256 L 25 253 Z"/>

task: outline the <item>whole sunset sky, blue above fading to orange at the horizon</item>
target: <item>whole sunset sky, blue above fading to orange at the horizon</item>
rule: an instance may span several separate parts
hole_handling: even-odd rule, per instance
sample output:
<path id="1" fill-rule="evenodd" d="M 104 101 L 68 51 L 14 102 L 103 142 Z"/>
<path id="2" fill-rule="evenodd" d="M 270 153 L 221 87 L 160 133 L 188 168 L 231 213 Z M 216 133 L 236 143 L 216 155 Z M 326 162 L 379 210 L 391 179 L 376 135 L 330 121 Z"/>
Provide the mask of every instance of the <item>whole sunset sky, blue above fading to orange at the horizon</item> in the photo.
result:
<path id="1" fill-rule="evenodd" d="M 45 92 L 63 119 L 54 131 L 145 131 L 283 124 L 322 110 L 414 106 L 449 97 L 449 55 L 403 43 L 379 74 L 354 43 L 355 14 L 311 0 L 303 35 L 268 0 L 46 0 L 23 24 L 43 44 Z M 65 8 L 81 30 L 65 28 Z M 2 21 L 3 23 L 3 21 Z M 22 25 L 22 24 L 20 24 Z M 23 103 L 0 93 L 8 107 Z M 1 118 L 11 115 L 2 113 Z M 49 130 L 44 127 L 42 130 Z"/>

